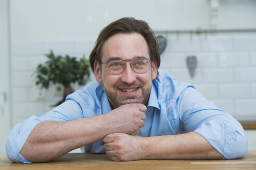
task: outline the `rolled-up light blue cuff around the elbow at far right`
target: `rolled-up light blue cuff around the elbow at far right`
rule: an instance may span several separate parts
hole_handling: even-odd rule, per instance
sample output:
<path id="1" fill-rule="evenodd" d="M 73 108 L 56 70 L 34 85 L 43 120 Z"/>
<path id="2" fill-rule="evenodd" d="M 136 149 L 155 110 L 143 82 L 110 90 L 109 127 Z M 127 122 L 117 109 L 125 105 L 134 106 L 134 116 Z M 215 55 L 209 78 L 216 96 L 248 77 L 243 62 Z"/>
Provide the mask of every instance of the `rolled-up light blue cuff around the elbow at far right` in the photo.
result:
<path id="1" fill-rule="evenodd" d="M 224 159 L 240 158 L 248 151 L 247 137 L 239 122 L 234 124 L 226 120 L 210 120 L 194 132 L 206 138 Z"/>

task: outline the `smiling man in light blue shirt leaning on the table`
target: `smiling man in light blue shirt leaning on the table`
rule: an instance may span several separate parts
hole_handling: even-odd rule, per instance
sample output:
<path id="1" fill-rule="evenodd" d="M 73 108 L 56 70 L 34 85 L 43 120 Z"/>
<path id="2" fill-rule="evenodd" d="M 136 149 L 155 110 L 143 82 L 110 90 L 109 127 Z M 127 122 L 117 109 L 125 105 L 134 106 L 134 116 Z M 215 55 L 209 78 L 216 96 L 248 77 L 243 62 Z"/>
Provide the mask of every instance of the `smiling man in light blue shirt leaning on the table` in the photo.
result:
<path id="1" fill-rule="evenodd" d="M 89 62 L 97 82 L 12 128 L 6 143 L 11 161 L 46 162 L 82 146 L 113 161 L 235 159 L 247 153 L 238 121 L 191 84 L 158 72 L 158 43 L 146 22 L 110 23 Z"/>

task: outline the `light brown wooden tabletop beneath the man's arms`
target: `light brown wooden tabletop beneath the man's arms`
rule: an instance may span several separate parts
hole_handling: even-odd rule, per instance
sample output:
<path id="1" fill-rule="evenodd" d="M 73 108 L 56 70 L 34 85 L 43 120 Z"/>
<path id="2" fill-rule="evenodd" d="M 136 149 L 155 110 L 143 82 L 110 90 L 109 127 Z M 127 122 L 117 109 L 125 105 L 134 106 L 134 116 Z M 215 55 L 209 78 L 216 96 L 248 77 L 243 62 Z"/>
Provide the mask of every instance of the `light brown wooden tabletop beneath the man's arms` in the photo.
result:
<path id="1" fill-rule="evenodd" d="M 256 151 L 236 160 L 139 160 L 110 161 L 105 154 L 68 153 L 47 163 L 11 163 L 0 154 L 0 169 L 256 169 Z"/>

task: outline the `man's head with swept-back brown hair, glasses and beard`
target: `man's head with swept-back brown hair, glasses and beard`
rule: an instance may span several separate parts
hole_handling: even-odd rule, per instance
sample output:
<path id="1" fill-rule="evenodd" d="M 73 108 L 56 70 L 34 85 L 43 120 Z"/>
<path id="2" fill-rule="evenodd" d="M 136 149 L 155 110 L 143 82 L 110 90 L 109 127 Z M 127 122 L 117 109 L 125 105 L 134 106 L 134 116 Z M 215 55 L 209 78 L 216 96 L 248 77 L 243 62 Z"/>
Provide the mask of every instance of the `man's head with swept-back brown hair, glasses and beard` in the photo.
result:
<path id="1" fill-rule="evenodd" d="M 113 108 L 146 105 L 160 65 L 157 39 L 146 22 L 119 19 L 100 32 L 89 62 Z"/>

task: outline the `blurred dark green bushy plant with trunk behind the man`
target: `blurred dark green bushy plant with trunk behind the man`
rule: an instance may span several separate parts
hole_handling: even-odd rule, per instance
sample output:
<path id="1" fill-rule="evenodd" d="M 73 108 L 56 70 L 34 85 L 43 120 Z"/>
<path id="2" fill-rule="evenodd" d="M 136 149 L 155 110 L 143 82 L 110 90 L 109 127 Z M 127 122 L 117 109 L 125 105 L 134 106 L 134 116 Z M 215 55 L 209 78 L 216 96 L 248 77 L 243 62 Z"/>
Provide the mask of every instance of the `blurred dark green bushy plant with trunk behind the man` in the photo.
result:
<path id="1" fill-rule="evenodd" d="M 66 97 L 74 92 L 71 87 L 72 83 L 84 85 L 89 80 L 90 68 L 88 60 L 81 58 L 79 61 L 76 57 L 66 55 L 55 55 L 52 50 L 46 54 L 48 60 L 44 64 L 39 64 L 35 69 L 36 85 L 48 89 L 50 84 L 61 84 L 64 88 L 62 100 L 56 105 L 65 102 Z"/>

